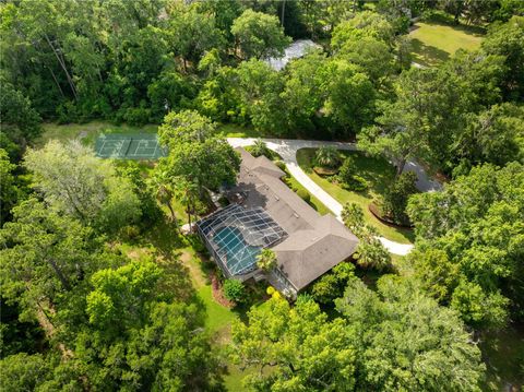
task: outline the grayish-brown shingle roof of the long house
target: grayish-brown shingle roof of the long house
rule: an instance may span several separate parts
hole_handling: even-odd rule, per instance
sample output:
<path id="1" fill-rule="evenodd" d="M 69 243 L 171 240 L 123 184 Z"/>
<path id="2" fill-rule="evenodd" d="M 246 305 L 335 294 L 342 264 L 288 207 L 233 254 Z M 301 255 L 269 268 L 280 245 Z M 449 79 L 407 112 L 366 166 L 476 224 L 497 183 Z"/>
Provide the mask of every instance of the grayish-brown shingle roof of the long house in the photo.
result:
<path id="1" fill-rule="evenodd" d="M 333 215 L 319 215 L 282 180 L 285 174 L 265 157 L 242 157 L 235 192 L 246 194 L 243 205 L 262 206 L 288 233 L 273 248 L 277 263 L 297 290 L 355 252 L 358 239 Z"/>

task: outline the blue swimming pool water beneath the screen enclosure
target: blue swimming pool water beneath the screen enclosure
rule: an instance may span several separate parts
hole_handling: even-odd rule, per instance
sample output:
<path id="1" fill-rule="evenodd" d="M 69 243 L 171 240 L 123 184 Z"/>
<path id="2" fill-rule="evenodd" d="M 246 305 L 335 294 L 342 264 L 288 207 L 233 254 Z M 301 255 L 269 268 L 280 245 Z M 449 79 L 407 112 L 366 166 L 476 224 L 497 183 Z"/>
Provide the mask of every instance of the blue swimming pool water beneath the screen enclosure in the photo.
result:
<path id="1" fill-rule="evenodd" d="M 248 245 L 238 228 L 233 226 L 219 228 L 213 236 L 213 241 L 221 249 L 219 253 L 224 253 L 223 260 L 233 275 L 248 272 L 257 264 L 257 256 L 261 248 Z"/>

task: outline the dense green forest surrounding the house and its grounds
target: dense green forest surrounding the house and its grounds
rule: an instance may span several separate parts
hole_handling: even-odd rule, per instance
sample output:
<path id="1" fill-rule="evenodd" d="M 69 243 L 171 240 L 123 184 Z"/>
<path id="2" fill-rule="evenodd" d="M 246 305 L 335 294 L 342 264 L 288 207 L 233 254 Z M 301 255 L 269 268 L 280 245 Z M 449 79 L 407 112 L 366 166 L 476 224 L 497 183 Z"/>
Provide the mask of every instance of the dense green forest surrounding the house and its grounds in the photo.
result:
<path id="1" fill-rule="evenodd" d="M 480 28 L 479 48 L 414 64 L 431 17 Z M 233 368 L 253 391 L 500 388 L 481 343 L 524 325 L 524 2 L 11 0 L 0 32 L 0 391 L 223 391 Z M 272 69 L 297 39 L 319 45 Z M 169 152 L 38 144 L 92 120 L 158 126 Z M 240 316 L 216 336 L 186 263 L 209 258 L 180 226 L 238 174 L 221 124 L 386 157 L 383 207 L 414 250 L 393 263 L 348 204 L 359 260 L 296 301 L 226 280 Z M 441 191 L 413 189 L 413 159 Z M 507 360 L 519 388 L 524 353 Z"/>

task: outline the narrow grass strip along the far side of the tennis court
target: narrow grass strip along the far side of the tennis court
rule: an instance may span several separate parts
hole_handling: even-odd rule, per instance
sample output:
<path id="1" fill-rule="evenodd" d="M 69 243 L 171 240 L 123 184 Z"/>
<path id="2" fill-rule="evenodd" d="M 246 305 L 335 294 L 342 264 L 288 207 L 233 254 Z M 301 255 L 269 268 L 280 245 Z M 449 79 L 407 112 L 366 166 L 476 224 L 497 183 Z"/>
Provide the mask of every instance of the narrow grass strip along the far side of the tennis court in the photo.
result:
<path id="1" fill-rule="evenodd" d="M 158 126 L 146 124 L 143 127 L 131 127 L 127 124 L 115 126 L 105 121 L 91 121 L 85 123 L 64 123 L 46 122 L 43 124 L 43 134 L 36 141 L 36 146 L 43 146 L 50 140 L 61 142 L 82 138 L 86 145 L 94 145 L 96 138 L 100 133 L 154 133 Z"/>

